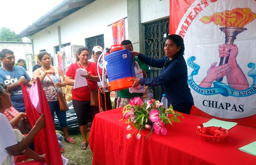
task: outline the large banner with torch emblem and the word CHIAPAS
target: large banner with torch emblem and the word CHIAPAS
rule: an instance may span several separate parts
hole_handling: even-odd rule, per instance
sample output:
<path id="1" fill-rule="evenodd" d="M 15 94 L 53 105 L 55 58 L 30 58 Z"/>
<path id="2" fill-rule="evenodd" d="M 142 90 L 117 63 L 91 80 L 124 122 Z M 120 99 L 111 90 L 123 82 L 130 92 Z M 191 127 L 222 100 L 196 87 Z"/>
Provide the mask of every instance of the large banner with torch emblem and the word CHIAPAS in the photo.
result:
<path id="1" fill-rule="evenodd" d="M 191 114 L 256 127 L 255 29 L 256 0 L 170 0 L 170 34 L 185 44 Z"/>

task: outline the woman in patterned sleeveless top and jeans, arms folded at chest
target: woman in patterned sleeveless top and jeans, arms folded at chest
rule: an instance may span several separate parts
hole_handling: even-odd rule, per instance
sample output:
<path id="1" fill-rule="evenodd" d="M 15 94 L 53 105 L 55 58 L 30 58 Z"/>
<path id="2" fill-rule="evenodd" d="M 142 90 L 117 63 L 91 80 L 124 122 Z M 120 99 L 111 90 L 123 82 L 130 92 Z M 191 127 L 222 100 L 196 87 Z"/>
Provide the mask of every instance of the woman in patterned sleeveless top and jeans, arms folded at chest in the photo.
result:
<path id="1" fill-rule="evenodd" d="M 34 77 L 35 79 L 36 77 L 39 77 L 40 82 L 42 83 L 51 110 L 52 119 L 54 121 L 54 115 L 56 113 L 60 128 L 62 128 L 64 133 L 65 141 L 75 144 L 76 140 L 68 135 L 66 112 L 60 110 L 58 101 L 58 95 L 63 93 L 61 87 L 66 86 L 65 76 L 60 68 L 51 66 L 52 60 L 46 51 L 41 51 L 38 54 L 38 60 L 42 63 L 42 67 L 35 70 Z M 60 83 L 61 77 L 64 80 L 63 83 Z M 55 81 L 58 83 L 54 83 Z"/>

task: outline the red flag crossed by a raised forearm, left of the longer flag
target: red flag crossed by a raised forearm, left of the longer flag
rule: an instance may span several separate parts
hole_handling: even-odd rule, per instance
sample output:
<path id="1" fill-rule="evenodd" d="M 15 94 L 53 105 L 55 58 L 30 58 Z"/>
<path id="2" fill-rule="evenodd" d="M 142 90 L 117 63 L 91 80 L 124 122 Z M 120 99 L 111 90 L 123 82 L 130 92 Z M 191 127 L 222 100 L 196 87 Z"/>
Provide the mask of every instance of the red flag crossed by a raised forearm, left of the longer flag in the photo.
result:
<path id="1" fill-rule="evenodd" d="M 29 125 L 32 128 L 34 127 L 36 121 L 39 119 L 40 115 L 38 114 L 38 111 L 35 109 L 34 105 L 32 104 L 29 98 L 29 92 L 27 91 L 27 86 L 24 86 L 23 83 L 20 83 L 20 87 L 23 92 L 23 98 L 24 98 L 26 114 L 29 121 Z M 35 135 L 33 143 L 35 145 L 35 152 L 37 154 L 43 155 L 46 153 L 43 129 L 41 129 L 41 131 L 39 131 L 38 134 Z"/>

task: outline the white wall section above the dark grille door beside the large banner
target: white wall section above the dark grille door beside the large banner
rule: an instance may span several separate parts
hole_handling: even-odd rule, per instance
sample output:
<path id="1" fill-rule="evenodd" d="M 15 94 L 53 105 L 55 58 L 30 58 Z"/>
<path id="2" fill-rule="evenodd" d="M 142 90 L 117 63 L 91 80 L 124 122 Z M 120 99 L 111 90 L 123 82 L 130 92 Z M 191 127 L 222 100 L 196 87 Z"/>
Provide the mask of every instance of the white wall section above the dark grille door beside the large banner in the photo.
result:
<path id="1" fill-rule="evenodd" d="M 140 0 L 141 23 L 160 20 L 170 15 L 170 0 Z"/>

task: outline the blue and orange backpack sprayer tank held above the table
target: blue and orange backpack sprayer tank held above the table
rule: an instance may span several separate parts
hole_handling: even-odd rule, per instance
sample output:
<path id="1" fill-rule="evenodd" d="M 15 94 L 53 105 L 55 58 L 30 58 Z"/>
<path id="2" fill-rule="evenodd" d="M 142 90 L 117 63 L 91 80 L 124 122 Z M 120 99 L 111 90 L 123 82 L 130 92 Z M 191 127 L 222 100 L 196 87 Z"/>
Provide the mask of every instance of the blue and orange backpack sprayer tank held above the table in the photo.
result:
<path id="1" fill-rule="evenodd" d="M 111 53 L 105 57 L 110 91 L 119 91 L 133 85 L 136 78 L 131 51 L 121 45 L 111 46 Z"/>

